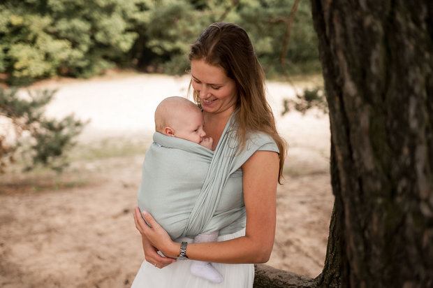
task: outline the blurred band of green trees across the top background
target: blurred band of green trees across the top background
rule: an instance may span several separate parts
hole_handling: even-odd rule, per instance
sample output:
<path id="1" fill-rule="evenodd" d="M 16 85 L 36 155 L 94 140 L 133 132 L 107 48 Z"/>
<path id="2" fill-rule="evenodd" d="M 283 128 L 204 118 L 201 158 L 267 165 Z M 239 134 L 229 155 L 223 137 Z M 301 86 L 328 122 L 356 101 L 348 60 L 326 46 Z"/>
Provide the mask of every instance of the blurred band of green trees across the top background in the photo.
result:
<path id="1" fill-rule="evenodd" d="M 189 44 L 217 21 L 248 31 L 268 78 L 318 73 L 310 3 L 296 2 L 291 21 L 295 0 L 3 0 L 0 78 L 28 85 L 113 68 L 182 75 Z"/>

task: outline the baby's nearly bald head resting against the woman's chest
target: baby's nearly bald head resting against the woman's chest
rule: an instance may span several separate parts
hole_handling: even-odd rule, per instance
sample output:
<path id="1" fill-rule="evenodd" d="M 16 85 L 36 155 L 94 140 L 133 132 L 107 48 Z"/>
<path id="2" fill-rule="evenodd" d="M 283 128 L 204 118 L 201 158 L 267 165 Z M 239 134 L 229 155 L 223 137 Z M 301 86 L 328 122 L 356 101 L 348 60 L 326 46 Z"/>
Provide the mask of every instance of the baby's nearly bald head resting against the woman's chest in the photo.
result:
<path id="1" fill-rule="evenodd" d="M 172 96 L 155 110 L 155 130 L 167 136 L 200 144 L 206 136 L 200 108 L 184 97 Z"/>

